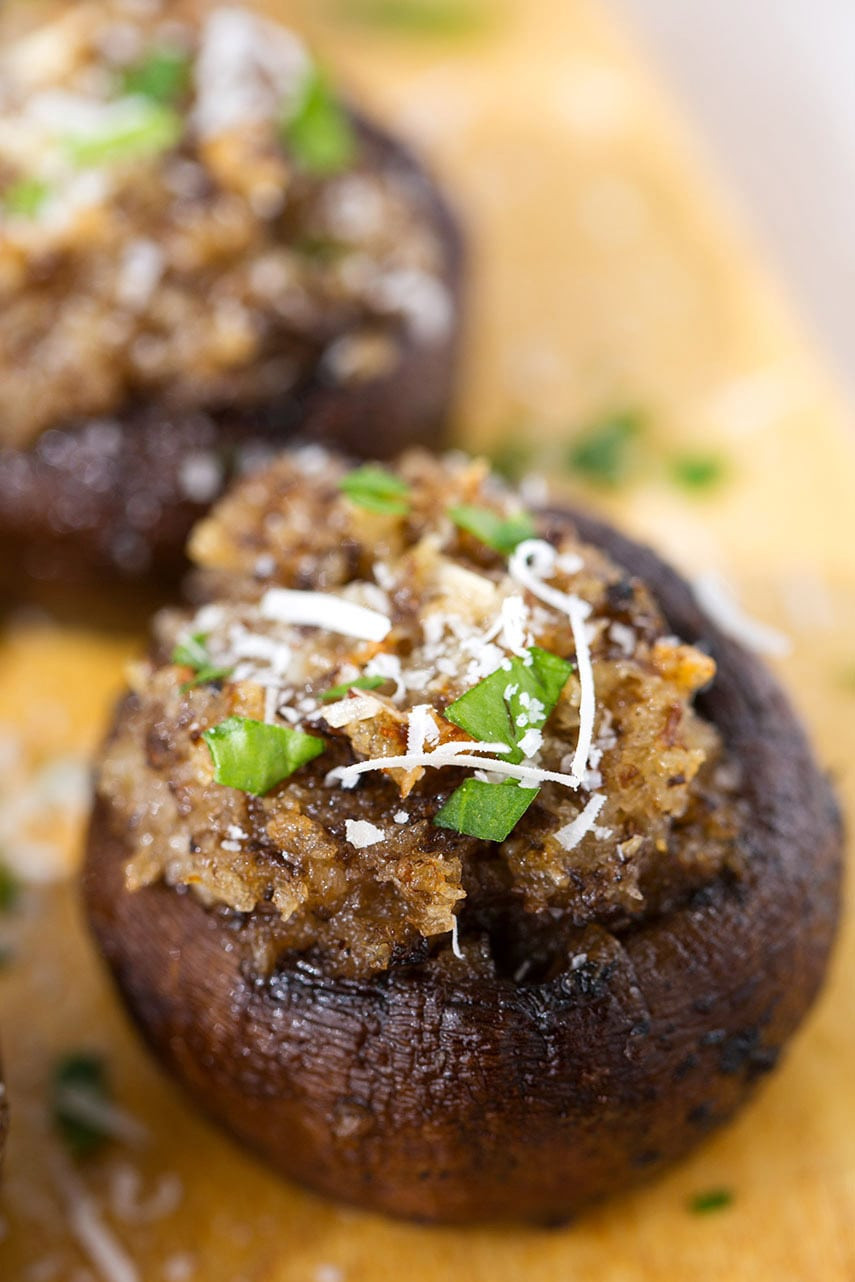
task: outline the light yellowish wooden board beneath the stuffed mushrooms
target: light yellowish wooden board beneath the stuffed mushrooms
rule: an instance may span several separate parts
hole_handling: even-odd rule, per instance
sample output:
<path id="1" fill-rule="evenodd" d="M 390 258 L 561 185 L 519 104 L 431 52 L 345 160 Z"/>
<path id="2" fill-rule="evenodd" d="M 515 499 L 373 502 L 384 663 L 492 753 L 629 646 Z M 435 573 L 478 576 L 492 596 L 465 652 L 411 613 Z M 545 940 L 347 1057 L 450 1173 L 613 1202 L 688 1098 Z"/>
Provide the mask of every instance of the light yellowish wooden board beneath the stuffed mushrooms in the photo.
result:
<path id="1" fill-rule="evenodd" d="M 468 223 L 459 438 L 555 445 L 641 410 L 641 477 L 583 497 L 682 568 L 722 572 L 791 635 L 781 674 L 852 815 L 855 446 L 837 392 L 592 0 L 485 3 L 486 24 L 454 37 L 346 27 L 326 0 L 277 12 L 423 147 Z M 727 463 L 710 491 L 668 477 L 696 449 Z M 92 1217 L 132 1264 L 120 1277 L 144 1282 L 852 1282 L 851 917 L 817 1013 L 756 1103 L 665 1178 L 560 1231 L 383 1222 L 279 1182 L 201 1120 L 128 1028 L 73 882 L 81 774 L 140 644 L 136 626 L 33 614 L 0 641 L 0 846 L 29 878 L 0 922 L 3 1282 L 106 1277 L 91 1233 L 83 1245 Z M 104 1054 L 142 1135 L 71 1169 L 49 1083 L 81 1047 Z M 693 1214 L 713 1188 L 731 1205 Z"/>

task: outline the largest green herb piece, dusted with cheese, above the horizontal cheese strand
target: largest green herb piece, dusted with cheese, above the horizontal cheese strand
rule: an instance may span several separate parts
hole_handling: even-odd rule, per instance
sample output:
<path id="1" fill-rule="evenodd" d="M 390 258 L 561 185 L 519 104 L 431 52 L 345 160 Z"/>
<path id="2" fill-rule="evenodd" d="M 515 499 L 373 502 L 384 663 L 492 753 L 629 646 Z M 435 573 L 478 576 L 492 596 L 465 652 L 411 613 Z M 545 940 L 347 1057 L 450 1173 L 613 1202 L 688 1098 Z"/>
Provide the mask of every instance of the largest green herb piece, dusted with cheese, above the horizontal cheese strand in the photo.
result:
<path id="1" fill-rule="evenodd" d="M 445 717 L 482 744 L 511 745 L 504 758 L 518 764 L 526 755 L 519 741 L 546 724 L 572 670 L 568 659 L 533 646 L 526 659 L 514 655 L 460 695 Z"/>

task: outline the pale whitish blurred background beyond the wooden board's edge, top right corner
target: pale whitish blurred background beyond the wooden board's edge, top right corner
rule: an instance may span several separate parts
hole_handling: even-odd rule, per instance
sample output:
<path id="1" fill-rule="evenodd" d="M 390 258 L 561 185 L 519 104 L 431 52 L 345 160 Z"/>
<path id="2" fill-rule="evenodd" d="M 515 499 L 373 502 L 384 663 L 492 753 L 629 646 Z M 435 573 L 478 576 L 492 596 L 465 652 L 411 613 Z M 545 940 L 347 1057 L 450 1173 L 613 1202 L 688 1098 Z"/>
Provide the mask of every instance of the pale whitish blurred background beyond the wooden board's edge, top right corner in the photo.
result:
<path id="1" fill-rule="evenodd" d="M 606 0 L 705 137 L 855 390 L 855 4 Z"/>

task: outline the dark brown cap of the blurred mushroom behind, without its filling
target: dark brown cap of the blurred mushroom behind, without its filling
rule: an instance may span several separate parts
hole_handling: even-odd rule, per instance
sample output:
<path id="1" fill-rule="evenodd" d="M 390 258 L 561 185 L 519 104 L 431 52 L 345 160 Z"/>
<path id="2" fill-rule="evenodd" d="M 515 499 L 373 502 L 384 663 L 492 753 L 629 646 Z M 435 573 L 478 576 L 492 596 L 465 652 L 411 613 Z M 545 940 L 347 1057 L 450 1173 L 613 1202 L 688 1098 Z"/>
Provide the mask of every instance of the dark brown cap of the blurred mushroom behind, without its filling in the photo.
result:
<path id="1" fill-rule="evenodd" d="M 391 458 L 437 445 L 451 400 L 461 329 L 463 240 L 441 191 L 395 137 L 350 113 L 377 172 L 404 179 L 414 208 L 444 249 L 441 279 L 452 322 L 437 341 L 400 335 L 400 360 L 381 377 L 341 387 L 315 370 L 279 400 L 204 414 L 156 401 L 110 415 L 120 435 L 105 447 L 96 420 L 58 423 L 29 449 L 0 447 L 0 582 L 21 587 L 22 569 L 51 582 L 104 578 L 174 582 L 186 569 L 191 527 L 237 473 L 238 455 L 276 451 L 292 438 Z M 223 462 L 218 494 L 187 497 L 182 465 L 213 451 Z"/>

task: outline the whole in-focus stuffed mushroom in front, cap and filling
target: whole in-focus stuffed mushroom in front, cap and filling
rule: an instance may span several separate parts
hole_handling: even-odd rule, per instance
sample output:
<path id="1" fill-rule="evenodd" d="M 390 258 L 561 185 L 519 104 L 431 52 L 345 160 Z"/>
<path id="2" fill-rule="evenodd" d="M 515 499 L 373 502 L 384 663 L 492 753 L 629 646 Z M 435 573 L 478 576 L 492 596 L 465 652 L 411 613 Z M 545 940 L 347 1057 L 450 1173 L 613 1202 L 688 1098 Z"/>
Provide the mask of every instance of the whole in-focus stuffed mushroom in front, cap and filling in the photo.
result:
<path id="1" fill-rule="evenodd" d="M 446 1222 L 568 1217 L 731 1117 L 820 985 L 841 829 L 687 585 L 461 455 L 291 453 L 190 550 L 85 894 L 192 1097 Z"/>

